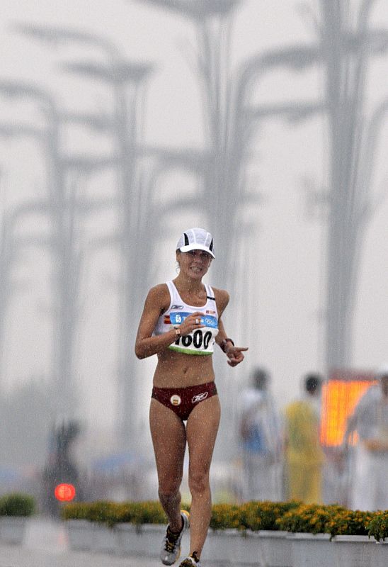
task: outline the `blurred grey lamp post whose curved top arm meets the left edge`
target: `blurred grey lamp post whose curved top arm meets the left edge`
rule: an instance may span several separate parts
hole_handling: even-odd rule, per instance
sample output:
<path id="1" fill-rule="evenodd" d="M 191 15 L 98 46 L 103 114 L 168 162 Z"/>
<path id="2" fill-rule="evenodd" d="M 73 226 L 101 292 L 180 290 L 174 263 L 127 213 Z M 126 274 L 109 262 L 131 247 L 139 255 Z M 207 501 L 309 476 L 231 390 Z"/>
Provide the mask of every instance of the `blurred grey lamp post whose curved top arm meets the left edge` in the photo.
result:
<path id="1" fill-rule="evenodd" d="M 55 383 L 57 415 L 69 415 L 74 410 L 74 345 L 79 323 L 79 282 L 83 258 L 82 245 L 77 239 L 76 192 L 68 187 L 67 175 L 59 152 L 61 116 L 55 100 L 35 85 L 1 80 L 0 92 L 16 99 L 31 99 L 38 103 L 46 119 L 43 130 L 28 128 L 38 137 L 47 159 L 47 198 L 42 203 L 29 203 L 16 210 L 18 218 L 38 207 L 51 221 L 51 234 L 40 245 L 52 252 L 53 340 L 52 372 Z M 32 241 L 35 242 L 34 240 Z"/>

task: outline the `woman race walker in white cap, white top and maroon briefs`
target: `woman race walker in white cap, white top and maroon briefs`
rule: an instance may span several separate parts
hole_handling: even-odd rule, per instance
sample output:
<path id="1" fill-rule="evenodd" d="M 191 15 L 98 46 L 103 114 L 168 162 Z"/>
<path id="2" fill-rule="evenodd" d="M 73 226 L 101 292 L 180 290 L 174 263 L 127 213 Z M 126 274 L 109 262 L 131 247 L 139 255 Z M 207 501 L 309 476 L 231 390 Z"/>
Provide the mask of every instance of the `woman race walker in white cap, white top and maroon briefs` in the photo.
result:
<path id="1" fill-rule="evenodd" d="M 179 274 L 149 291 L 137 332 L 137 357 L 158 355 L 149 422 L 159 499 L 169 520 L 160 554 L 164 565 L 178 560 L 182 534 L 190 524 L 190 555 L 180 567 L 200 566 L 212 509 L 209 470 L 220 415 L 211 355 L 217 342 L 228 364 L 236 366 L 247 350 L 235 347 L 222 325 L 227 291 L 202 283 L 214 257 L 210 232 L 184 232 L 176 246 Z M 181 511 L 180 493 L 186 442 L 190 522 L 188 512 Z"/>

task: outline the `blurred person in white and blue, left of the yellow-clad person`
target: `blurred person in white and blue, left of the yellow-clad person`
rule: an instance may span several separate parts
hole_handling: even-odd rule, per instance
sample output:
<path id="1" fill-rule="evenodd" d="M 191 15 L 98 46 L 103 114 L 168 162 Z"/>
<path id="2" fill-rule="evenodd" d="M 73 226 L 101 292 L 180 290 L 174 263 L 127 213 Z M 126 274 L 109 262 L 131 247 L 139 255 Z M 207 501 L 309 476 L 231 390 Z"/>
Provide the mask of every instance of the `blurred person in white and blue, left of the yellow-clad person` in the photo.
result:
<path id="1" fill-rule="evenodd" d="M 256 368 L 251 386 L 241 395 L 239 434 L 243 456 L 243 500 L 282 497 L 282 430 L 280 415 L 268 391 L 270 376 Z"/>

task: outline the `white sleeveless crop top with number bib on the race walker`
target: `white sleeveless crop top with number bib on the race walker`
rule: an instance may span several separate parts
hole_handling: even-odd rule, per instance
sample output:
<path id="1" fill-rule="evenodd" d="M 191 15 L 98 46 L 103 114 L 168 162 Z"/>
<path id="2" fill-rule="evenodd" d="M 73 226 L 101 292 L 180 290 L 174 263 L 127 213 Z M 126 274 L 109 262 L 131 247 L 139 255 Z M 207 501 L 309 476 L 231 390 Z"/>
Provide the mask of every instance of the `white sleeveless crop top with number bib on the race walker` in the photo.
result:
<path id="1" fill-rule="evenodd" d="M 154 335 L 162 335 L 168 332 L 174 325 L 181 323 L 195 311 L 204 313 L 201 317 L 202 329 L 195 329 L 185 337 L 176 337 L 176 341 L 170 344 L 169 349 L 185 354 L 212 354 L 214 352 L 215 337 L 218 333 L 218 313 L 215 303 L 215 295 L 210 286 L 206 288 L 206 303 L 203 307 L 195 307 L 185 303 L 176 289 L 173 281 L 167 281 L 166 285 L 170 292 L 170 305 L 156 322 Z"/>

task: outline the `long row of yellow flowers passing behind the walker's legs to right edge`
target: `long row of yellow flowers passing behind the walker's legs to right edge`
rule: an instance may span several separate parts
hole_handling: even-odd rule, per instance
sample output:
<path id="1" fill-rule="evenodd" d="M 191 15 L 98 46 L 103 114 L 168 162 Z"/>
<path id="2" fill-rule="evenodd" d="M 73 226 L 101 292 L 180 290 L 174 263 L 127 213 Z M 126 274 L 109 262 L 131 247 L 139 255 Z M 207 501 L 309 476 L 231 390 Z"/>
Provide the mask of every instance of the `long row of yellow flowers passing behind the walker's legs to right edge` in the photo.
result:
<path id="1" fill-rule="evenodd" d="M 188 505 L 183 506 L 186 510 Z M 166 524 L 159 502 L 108 501 L 72 503 L 62 509 L 64 520 L 89 520 L 113 526 L 132 524 Z M 241 505 L 215 504 L 210 520 L 212 529 L 285 530 L 287 532 L 370 535 L 377 541 L 388 537 L 388 510 L 363 512 L 339 505 L 304 505 L 289 502 L 248 502 Z"/>

